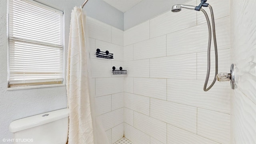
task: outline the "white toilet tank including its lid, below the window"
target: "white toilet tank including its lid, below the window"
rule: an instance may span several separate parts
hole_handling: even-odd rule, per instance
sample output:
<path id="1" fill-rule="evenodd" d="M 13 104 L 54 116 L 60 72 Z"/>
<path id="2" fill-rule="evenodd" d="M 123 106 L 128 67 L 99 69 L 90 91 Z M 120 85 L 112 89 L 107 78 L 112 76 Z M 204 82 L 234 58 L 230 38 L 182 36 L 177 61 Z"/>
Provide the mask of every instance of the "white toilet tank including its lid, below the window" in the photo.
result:
<path id="1" fill-rule="evenodd" d="M 9 126 L 14 144 L 66 144 L 68 116 L 69 110 L 64 108 L 14 120 Z"/>

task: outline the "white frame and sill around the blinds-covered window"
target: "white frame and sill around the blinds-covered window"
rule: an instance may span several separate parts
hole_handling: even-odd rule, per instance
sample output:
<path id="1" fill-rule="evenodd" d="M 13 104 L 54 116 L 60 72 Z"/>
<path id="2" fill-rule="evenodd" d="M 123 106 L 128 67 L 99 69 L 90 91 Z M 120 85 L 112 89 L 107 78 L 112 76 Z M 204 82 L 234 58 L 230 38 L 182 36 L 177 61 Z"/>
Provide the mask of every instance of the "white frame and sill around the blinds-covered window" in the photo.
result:
<path id="1" fill-rule="evenodd" d="M 63 80 L 62 83 L 59 84 L 36 84 L 36 85 L 22 85 L 22 84 L 17 84 L 17 85 L 21 85 L 21 86 L 14 86 L 14 87 L 10 87 L 10 58 L 9 58 L 9 54 L 10 54 L 10 46 L 9 46 L 9 9 L 10 9 L 10 2 L 9 0 L 6 0 L 6 54 L 7 54 L 7 60 L 6 60 L 6 72 L 7 72 L 7 88 L 6 90 L 21 90 L 21 89 L 31 89 L 31 88 L 47 88 L 47 87 L 58 87 L 58 86 L 66 86 L 66 72 L 65 72 L 65 15 L 64 15 L 64 11 L 62 10 L 58 10 L 57 8 L 53 8 L 51 6 L 48 6 L 46 4 L 42 4 L 40 2 L 36 2 L 34 0 L 22 0 L 24 2 L 28 2 L 31 4 L 34 4 L 36 6 L 40 6 L 42 8 L 48 9 L 48 10 L 52 10 L 55 12 L 58 12 L 60 14 L 62 14 L 62 76 L 63 76 Z"/>

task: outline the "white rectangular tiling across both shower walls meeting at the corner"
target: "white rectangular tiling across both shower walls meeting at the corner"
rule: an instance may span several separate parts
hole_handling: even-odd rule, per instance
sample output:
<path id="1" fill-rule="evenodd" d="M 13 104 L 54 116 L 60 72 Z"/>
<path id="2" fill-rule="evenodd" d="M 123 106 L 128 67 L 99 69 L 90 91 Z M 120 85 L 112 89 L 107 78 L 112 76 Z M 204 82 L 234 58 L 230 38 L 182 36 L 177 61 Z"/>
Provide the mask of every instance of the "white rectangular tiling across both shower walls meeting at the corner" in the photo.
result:
<path id="1" fill-rule="evenodd" d="M 228 72 L 230 0 L 225 0 L 225 8 L 222 2 L 210 4 L 216 19 L 219 72 Z M 101 105 L 111 144 L 123 134 L 134 144 L 230 143 L 229 84 L 216 82 L 210 91 L 203 91 L 208 30 L 201 13 L 168 11 L 125 32 L 88 18 L 92 94 Z M 114 59 L 96 58 L 97 48 L 114 53 Z M 214 52 L 211 56 L 209 82 Z M 112 66 L 122 66 L 127 75 L 112 75 Z"/>

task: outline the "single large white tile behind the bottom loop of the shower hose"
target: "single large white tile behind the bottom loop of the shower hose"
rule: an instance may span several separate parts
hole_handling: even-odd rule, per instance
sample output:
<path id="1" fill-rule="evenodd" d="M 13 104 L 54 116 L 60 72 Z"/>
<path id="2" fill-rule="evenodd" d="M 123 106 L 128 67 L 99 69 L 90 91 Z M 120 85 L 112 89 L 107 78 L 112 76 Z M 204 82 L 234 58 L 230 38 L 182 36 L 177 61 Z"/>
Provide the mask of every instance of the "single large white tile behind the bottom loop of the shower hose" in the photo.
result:
<path id="1" fill-rule="evenodd" d="M 198 108 L 230 112 L 230 83 L 216 82 L 208 92 L 204 80 L 167 80 L 167 100 Z"/>

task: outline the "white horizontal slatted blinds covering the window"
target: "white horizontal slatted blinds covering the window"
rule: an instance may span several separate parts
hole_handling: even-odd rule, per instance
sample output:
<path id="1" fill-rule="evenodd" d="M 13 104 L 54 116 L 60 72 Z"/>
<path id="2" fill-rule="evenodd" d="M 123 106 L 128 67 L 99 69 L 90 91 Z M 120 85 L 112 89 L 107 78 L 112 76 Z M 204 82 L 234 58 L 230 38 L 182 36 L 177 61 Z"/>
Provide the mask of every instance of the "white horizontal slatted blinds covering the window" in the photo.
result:
<path id="1" fill-rule="evenodd" d="M 63 12 L 32 0 L 9 1 L 8 85 L 63 83 Z"/>

